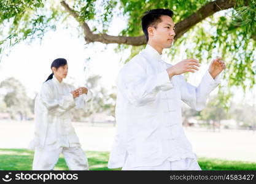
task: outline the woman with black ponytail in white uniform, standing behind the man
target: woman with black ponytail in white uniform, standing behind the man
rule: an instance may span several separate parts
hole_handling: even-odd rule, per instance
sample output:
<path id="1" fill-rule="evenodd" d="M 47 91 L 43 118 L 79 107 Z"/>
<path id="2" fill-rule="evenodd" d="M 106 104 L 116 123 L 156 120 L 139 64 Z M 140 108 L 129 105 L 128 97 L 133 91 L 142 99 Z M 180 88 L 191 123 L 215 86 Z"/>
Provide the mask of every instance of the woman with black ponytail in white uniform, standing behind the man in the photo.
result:
<path id="1" fill-rule="evenodd" d="M 66 59 L 52 62 L 52 74 L 36 97 L 33 170 L 53 170 L 60 153 L 70 170 L 88 170 L 87 156 L 71 124 L 71 109 L 85 109 L 90 99 L 85 87 L 75 89 L 63 82 L 68 74 Z"/>

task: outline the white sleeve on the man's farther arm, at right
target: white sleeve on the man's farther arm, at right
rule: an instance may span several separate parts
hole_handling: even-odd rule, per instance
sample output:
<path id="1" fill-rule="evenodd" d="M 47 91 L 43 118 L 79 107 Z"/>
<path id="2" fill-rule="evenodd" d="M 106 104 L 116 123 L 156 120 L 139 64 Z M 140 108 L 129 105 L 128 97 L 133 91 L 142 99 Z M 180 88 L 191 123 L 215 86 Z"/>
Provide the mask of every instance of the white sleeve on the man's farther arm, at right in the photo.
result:
<path id="1" fill-rule="evenodd" d="M 182 101 L 192 107 L 192 109 L 200 111 L 204 109 L 209 93 L 219 85 L 220 80 L 219 76 L 214 80 L 209 71 L 206 71 L 198 87 L 187 83 L 182 75 L 180 75 L 180 82 Z"/>

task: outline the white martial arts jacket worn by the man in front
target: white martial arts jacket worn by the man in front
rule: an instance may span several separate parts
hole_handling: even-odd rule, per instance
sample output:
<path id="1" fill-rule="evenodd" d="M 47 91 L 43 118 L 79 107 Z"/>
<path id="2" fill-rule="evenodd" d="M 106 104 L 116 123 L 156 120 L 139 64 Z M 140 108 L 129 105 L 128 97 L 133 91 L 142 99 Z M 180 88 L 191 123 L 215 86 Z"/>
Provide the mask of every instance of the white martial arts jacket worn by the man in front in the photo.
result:
<path id="1" fill-rule="evenodd" d="M 166 161 L 196 158 L 182 128 L 181 101 L 202 110 L 208 94 L 220 83 L 207 71 L 196 88 L 182 75 L 169 79 L 172 66 L 147 45 L 126 63 L 117 77 L 115 136 L 108 167 L 157 166 Z"/>

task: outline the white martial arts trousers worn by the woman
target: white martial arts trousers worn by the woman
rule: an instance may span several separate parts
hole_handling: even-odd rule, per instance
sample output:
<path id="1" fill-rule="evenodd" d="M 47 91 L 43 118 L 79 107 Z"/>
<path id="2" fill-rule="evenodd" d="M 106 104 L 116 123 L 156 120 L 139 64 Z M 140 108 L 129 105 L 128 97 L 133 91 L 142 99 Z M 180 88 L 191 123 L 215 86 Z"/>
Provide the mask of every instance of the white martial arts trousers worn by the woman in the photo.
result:
<path id="1" fill-rule="evenodd" d="M 69 170 L 89 170 L 87 156 L 81 147 L 61 147 L 56 150 L 36 148 L 33 170 L 53 170 L 60 153 L 63 153 Z"/>

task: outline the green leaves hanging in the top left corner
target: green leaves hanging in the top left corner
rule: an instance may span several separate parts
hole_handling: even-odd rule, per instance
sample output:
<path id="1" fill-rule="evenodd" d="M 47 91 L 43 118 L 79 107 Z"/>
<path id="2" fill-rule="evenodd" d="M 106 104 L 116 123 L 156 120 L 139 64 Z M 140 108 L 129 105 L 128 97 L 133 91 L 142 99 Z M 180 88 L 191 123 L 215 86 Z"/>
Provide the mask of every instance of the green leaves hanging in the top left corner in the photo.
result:
<path id="1" fill-rule="evenodd" d="M 0 33 L 7 32 L 9 36 L 1 40 L 0 53 L 7 45 L 15 45 L 25 39 L 42 39 L 48 30 L 55 29 L 55 21 L 60 18 L 57 15 L 61 12 L 52 6 L 53 3 L 46 4 L 45 0 L 1 1 Z"/>

